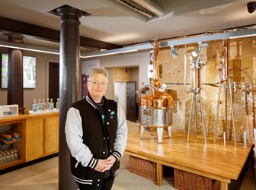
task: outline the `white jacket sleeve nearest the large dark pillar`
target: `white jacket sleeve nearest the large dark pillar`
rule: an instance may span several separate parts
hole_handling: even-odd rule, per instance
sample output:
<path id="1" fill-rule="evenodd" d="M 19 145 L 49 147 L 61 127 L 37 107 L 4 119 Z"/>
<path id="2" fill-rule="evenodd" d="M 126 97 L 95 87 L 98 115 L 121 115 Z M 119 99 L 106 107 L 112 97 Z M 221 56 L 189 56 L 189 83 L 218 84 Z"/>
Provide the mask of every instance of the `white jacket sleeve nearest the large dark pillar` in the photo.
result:
<path id="1" fill-rule="evenodd" d="M 91 150 L 83 144 L 82 119 L 78 109 L 71 107 L 67 112 L 65 133 L 72 157 L 75 157 L 78 163 L 82 163 L 82 166 L 89 166 L 94 169 L 98 160 L 93 158 Z"/>

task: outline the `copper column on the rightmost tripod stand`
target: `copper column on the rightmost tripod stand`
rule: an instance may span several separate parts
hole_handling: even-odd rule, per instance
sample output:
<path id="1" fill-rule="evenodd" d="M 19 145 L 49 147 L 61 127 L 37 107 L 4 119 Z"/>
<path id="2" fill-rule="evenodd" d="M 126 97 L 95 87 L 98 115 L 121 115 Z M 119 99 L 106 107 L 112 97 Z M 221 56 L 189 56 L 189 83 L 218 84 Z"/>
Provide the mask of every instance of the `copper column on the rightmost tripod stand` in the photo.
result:
<path id="1" fill-rule="evenodd" d="M 227 81 L 229 77 L 229 41 L 222 40 L 222 81 Z"/>

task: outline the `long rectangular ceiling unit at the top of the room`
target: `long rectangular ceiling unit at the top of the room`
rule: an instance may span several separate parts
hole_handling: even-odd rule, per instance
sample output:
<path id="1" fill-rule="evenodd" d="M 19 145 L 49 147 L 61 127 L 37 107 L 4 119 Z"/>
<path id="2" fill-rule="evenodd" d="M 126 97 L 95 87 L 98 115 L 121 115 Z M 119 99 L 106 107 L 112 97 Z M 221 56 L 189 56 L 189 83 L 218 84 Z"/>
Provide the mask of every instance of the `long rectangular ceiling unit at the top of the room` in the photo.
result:
<path id="1" fill-rule="evenodd" d="M 155 3 L 149 0 L 116 0 L 116 2 L 119 2 L 148 18 L 161 17 L 165 13 L 163 8 L 155 5 Z"/>

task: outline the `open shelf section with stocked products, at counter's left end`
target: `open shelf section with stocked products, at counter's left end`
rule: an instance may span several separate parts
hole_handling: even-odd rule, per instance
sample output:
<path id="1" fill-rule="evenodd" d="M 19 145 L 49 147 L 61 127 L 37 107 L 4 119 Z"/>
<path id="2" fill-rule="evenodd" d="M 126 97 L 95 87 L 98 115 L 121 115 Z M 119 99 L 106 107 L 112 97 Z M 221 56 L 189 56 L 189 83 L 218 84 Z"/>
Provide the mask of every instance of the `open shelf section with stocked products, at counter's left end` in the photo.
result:
<path id="1" fill-rule="evenodd" d="M 25 120 L 7 121 L 0 124 L 0 170 L 25 161 Z"/>

